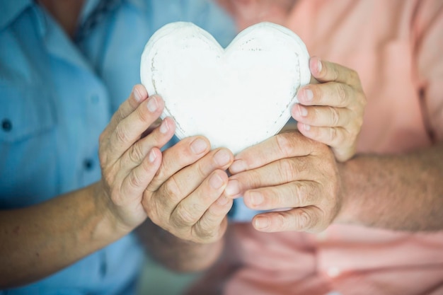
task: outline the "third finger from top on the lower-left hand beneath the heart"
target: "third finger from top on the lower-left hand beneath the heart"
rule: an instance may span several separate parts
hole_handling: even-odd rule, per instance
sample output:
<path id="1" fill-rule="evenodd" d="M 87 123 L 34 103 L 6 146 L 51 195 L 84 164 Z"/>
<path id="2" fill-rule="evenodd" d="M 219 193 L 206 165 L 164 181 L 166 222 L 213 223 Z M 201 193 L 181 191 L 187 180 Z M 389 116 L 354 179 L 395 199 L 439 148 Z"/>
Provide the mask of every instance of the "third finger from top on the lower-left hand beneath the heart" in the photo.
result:
<path id="1" fill-rule="evenodd" d="M 171 223 L 178 229 L 194 226 L 222 195 L 227 183 L 228 175 L 223 170 L 215 170 L 192 194 L 177 204 L 171 213 Z"/>

